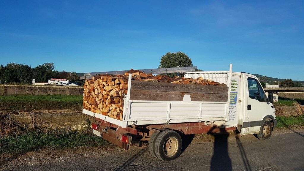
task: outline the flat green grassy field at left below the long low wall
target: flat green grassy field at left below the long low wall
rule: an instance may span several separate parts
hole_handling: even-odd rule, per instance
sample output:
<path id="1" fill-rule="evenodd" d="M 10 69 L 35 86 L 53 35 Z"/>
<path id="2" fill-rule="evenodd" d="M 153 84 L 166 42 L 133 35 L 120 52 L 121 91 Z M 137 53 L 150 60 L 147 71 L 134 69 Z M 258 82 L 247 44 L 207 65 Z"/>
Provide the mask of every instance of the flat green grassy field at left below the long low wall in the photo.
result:
<path id="1" fill-rule="evenodd" d="M 82 95 L 2 95 L 1 110 L 81 109 Z"/>

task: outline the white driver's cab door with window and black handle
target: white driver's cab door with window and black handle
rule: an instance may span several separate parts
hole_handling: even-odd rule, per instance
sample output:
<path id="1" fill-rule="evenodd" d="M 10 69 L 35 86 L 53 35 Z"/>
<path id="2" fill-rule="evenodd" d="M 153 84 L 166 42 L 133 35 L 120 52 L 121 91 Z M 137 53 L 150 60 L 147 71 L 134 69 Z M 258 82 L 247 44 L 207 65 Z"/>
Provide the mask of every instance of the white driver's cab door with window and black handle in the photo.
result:
<path id="1" fill-rule="evenodd" d="M 247 76 L 247 118 L 249 122 L 243 127 L 249 127 L 248 133 L 259 132 L 261 117 L 267 113 L 266 96 L 260 82 L 257 79 Z"/>

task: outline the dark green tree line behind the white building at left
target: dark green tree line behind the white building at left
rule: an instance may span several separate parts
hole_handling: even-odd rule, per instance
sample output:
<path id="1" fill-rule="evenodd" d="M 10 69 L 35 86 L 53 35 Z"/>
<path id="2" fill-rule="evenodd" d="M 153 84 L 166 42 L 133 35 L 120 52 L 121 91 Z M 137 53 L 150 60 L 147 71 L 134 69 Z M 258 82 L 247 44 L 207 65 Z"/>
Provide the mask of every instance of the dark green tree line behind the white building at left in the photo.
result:
<path id="1" fill-rule="evenodd" d="M 54 63 L 44 63 L 32 68 L 25 64 L 9 63 L 0 67 L 0 84 L 23 83 L 30 84 L 35 79 L 36 82 L 48 82 L 51 78 L 68 79 L 71 82 L 80 82 L 76 72 L 58 72 Z"/>

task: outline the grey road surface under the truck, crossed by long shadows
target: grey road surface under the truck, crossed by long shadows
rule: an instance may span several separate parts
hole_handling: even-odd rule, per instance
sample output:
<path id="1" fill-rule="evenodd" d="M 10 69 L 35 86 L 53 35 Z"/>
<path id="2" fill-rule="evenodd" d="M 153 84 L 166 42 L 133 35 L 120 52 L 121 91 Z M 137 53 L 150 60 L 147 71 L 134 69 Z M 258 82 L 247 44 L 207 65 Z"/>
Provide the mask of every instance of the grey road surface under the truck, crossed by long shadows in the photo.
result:
<path id="1" fill-rule="evenodd" d="M 170 162 L 153 158 L 147 148 L 134 147 L 132 151 L 113 148 L 60 159 L 16 159 L 0 170 L 304 170 L 304 130 L 276 130 L 269 141 L 234 133 L 216 136 L 212 141 L 197 138 Z"/>

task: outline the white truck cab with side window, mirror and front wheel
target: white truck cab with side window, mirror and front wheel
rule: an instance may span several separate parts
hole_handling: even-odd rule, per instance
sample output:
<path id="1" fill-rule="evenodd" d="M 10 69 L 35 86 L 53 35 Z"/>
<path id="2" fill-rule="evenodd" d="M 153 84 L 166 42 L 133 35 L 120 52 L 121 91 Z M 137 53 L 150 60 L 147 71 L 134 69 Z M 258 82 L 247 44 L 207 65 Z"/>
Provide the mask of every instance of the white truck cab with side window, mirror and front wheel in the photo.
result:
<path id="1" fill-rule="evenodd" d="M 266 96 L 256 76 L 249 73 L 235 73 L 241 76 L 243 87 L 240 90 L 239 103 L 242 109 L 237 129 L 242 135 L 257 134 L 258 138 L 267 140 L 277 124 L 272 93 Z M 242 96 L 243 95 L 243 96 Z"/>

